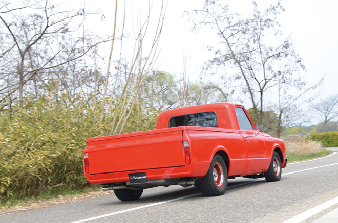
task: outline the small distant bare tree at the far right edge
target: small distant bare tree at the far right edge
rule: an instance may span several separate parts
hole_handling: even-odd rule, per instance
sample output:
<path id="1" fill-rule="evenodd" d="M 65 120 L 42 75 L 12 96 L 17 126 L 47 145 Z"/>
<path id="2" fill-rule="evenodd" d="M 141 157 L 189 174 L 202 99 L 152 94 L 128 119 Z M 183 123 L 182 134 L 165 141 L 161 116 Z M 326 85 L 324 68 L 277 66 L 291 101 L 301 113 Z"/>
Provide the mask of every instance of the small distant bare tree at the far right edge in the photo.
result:
<path id="1" fill-rule="evenodd" d="M 338 118 L 338 94 L 331 95 L 311 106 L 314 118 L 323 122 L 323 132 L 327 122 Z"/>

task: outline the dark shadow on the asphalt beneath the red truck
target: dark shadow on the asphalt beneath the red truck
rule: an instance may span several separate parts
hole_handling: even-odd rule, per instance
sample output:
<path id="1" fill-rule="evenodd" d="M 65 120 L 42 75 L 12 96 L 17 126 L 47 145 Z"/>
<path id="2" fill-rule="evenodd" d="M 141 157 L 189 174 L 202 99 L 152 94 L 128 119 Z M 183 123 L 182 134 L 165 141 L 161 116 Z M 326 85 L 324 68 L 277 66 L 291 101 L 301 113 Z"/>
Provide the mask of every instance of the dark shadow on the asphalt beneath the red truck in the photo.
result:
<path id="1" fill-rule="evenodd" d="M 264 180 L 245 179 L 245 180 L 239 180 L 239 181 L 230 180 L 228 182 L 228 189 L 226 190 L 225 195 L 227 193 L 235 192 L 236 190 L 242 190 L 248 187 L 255 187 L 257 186 L 257 184 L 262 184 L 262 183 L 267 183 L 267 182 L 265 181 L 265 179 Z M 157 191 L 157 190 L 158 190 L 157 188 L 151 188 L 151 189 L 144 190 L 146 193 L 143 192 L 143 195 L 141 196 L 141 198 L 136 201 L 122 202 L 122 201 L 117 200 L 116 197 L 114 197 L 114 201 L 102 203 L 99 205 L 102 205 L 102 206 L 112 206 L 112 205 L 121 205 L 121 204 L 147 205 L 150 203 L 163 202 L 163 201 L 177 199 L 179 197 L 194 195 L 194 194 L 196 195 L 188 197 L 184 200 L 186 201 L 187 199 L 197 200 L 197 199 L 208 199 L 209 198 L 201 194 L 200 188 L 195 187 L 195 186 L 190 186 L 187 188 L 176 187 L 173 189 L 169 187 L 168 189 L 166 189 L 167 191 Z M 181 200 L 177 200 L 177 201 L 181 201 Z"/>

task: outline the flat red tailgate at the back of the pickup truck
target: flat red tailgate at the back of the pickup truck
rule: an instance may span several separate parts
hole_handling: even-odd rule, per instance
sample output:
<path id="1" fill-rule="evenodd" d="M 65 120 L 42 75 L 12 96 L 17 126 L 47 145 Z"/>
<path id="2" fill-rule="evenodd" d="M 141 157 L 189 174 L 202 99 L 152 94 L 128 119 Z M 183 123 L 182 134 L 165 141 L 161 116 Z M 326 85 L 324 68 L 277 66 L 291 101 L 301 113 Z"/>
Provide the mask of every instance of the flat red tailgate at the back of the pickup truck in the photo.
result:
<path id="1" fill-rule="evenodd" d="M 88 142 L 89 173 L 184 166 L 182 130 Z"/>

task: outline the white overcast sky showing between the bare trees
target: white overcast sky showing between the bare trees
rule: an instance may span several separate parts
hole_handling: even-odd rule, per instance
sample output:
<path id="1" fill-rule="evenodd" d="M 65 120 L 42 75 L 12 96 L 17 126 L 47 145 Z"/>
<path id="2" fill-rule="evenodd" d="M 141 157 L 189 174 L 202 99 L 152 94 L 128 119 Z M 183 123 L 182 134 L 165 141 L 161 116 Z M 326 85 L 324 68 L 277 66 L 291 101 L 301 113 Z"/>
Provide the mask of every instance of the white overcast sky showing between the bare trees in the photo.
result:
<path id="1" fill-rule="evenodd" d="M 86 2 L 86 10 L 100 10 L 105 19 L 103 21 L 88 21 L 87 26 L 94 27 L 96 34 L 112 35 L 115 1 L 81 1 Z M 127 20 L 134 22 L 138 17 L 145 16 L 148 7 L 147 0 L 126 0 Z M 160 1 L 151 1 L 153 9 L 158 9 Z M 224 1 L 239 13 L 249 13 L 251 1 Z M 271 1 L 258 1 L 259 5 L 270 4 Z M 118 1 L 119 12 L 122 13 L 123 1 Z M 212 54 L 205 46 L 217 45 L 218 39 L 214 31 L 191 32 L 192 26 L 188 22 L 189 16 L 185 11 L 202 9 L 204 0 L 169 0 L 167 4 L 164 28 L 160 40 L 160 57 L 157 69 L 176 75 L 183 72 L 183 57 L 186 58 L 186 69 L 190 79 L 197 80 L 201 75 L 201 66 Z M 316 96 L 324 98 L 338 94 L 338 68 L 336 66 L 338 52 L 338 1 L 322 0 L 282 0 L 285 12 L 278 16 L 283 35 L 291 35 L 295 51 L 303 59 L 306 66 L 308 84 L 318 81 L 326 74 L 326 81 Z M 153 17 L 155 18 L 155 17 Z M 152 19 L 155 21 L 156 19 Z M 121 14 L 118 23 L 121 22 Z M 94 26 L 93 26 L 94 24 Z M 134 24 L 135 25 L 135 24 Z M 118 31 L 120 27 L 118 27 Z M 132 35 L 130 35 L 132 39 Z M 109 47 L 101 49 L 102 54 L 109 54 Z M 124 51 L 130 54 L 129 50 Z M 114 53 L 113 53 L 114 54 Z M 116 51 L 117 54 L 117 51 Z M 247 107 L 250 107 L 248 105 Z"/>

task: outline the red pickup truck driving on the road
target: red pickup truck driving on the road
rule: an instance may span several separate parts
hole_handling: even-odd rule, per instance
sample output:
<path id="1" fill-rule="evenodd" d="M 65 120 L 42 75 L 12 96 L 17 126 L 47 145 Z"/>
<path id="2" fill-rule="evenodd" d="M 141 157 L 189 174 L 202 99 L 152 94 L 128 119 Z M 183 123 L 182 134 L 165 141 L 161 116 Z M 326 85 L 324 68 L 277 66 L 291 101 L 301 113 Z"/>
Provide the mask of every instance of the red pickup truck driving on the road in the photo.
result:
<path id="1" fill-rule="evenodd" d="M 228 178 L 279 181 L 286 163 L 283 140 L 258 131 L 244 107 L 231 103 L 164 111 L 155 130 L 89 138 L 83 152 L 89 182 L 122 201 L 177 184 L 222 195 Z"/>

